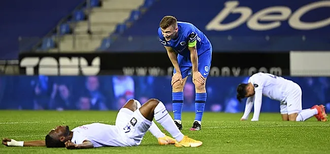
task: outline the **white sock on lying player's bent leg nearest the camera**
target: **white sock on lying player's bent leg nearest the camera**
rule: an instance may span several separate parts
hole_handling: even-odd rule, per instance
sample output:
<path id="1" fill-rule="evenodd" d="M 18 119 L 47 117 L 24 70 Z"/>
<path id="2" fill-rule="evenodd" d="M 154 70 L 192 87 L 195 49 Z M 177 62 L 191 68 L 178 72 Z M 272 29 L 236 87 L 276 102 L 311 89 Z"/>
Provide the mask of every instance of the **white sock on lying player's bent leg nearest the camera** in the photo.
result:
<path id="1" fill-rule="evenodd" d="M 183 139 L 183 134 L 175 125 L 164 104 L 160 101 L 154 110 L 155 120 L 163 126 L 178 142 Z"/>

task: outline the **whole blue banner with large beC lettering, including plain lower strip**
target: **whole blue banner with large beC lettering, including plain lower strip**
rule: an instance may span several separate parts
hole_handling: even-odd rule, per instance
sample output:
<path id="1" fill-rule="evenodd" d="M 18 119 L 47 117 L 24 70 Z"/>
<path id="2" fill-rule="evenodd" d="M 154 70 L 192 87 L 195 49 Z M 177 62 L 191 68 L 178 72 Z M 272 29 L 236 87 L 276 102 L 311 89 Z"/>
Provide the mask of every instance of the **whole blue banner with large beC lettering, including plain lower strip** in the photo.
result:
<path id="1" fill-rule="evenodd" d="M 194 24 L 210 39 L 214 52 L 330 50 L 330 1 L 315 0 L 160 0 L 109 50 L 163 50 L 157 28 L 166 15 Z"/>

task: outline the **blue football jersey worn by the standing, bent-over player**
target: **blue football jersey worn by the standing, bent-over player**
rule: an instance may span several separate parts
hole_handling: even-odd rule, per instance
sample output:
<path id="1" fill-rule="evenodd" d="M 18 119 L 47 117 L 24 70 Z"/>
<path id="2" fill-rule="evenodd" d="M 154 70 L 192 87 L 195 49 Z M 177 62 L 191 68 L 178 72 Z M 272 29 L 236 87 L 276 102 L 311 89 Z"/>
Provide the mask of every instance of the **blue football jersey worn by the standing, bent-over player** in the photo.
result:
<path id="1" fill-rule="evenodd" d="M 196 42 L 197 55 L 200 56 L 205 52 L 211 52 L 212 46 L 209 39 L 204 35 L 202 31 L 197 29 L 193 24 L 187 22 L 178 22 L 178 37 L 166 41 L 161 34 L 160 27 L 158 28 L 159 41 L 165 46 L 172 47 L 175 52 L 183 57 L 190 57 L 190 51 L 188 49 L 188 43 Z"/>

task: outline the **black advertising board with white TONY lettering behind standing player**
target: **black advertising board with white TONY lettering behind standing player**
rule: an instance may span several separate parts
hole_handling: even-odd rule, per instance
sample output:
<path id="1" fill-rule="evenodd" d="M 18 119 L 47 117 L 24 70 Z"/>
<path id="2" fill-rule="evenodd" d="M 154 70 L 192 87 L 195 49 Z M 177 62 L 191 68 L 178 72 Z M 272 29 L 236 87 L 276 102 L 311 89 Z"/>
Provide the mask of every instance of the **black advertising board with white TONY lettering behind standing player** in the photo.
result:
<path id="1" fill-rule="evenodd" d="M 26 75 L 171 76 L 167 53 L 22 54 Z M 213 53 L 209 76 L 250 76 L 256 72 L 289 75 L 288 53 Z"/>

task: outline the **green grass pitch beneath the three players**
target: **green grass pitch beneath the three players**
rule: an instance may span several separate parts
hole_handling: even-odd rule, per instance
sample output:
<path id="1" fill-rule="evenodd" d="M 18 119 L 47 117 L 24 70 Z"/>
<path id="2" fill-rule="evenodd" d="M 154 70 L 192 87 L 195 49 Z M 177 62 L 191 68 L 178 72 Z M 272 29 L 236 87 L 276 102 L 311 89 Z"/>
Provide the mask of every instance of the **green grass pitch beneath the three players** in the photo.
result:
<path id="1" fill-rule="evenodd" d="M 73 129 L 92 122 L 114 124 L 116 115 L 115 111 L 0 111 L 0 137 L 15 140 L 44 139 L 57 125 L 68 125 Z M 203 141 L 203 145 L 196 148 L 161 146 L 148 132 L 142 144 L 137 147 L 68 150 L 1 145 L 0 153 L 330 153 L 328 122 L 318 122 L 314 117 L 305 122 L 282 122 L 279 113 L 261 113 L 258 122 L 241 122 L 241 116 L 242 113 L 204 113 L 202 130 L 191 132 L 189 128 L 194 113 L 183 113 L 182 132 Z"/>

